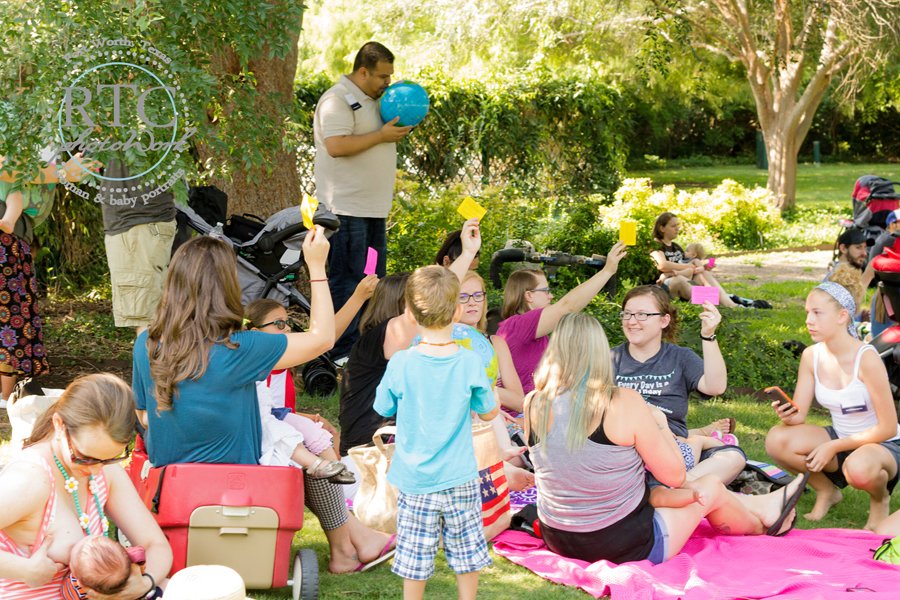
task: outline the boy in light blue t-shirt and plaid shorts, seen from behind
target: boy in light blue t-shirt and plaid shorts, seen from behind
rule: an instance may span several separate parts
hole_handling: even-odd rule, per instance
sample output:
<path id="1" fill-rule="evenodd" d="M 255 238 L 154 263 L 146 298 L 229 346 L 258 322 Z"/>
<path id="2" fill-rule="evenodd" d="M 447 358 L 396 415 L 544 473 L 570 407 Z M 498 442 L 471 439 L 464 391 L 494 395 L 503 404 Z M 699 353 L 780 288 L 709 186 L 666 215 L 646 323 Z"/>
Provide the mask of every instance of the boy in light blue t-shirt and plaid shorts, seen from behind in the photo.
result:
<path id="1" fill-rule="evenodd" d="M 497 406 L 478 355 L 451 338 L 458 299 L 459 279 L 444 267 L 422 267 L 410 276 L 406 306 L 421 341 L 391 357 L 375 394 L 375 410 L 397 417 L 388 471 L 400 490 L 391 570 L 404 578 L 406 599 L 424 595 L 441 534 L 460 598 L 475 598 L 478 572 L 491 564 L 470 412 L 487 421 Z"/>

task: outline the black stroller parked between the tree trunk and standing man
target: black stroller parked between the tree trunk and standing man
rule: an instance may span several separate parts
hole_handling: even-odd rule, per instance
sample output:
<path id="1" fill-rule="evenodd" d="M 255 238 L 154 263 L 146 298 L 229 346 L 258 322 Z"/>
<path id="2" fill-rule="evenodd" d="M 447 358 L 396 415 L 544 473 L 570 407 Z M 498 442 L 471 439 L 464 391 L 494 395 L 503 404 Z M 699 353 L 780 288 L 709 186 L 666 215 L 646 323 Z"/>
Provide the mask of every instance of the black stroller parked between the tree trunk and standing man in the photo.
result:
<path id="1" fill-rule="evenodd" d="M 227 207 L 228 197 L 221 190 L 211 186 L 190 188 L 188 206 L 176 205 L 178 233 L 172 251 L 190 238 L 190 230 L 219 237 L 237 256 L 244 304 L 272 298 L 309 314 L 309 300 L 294 285 L 303 266 L 301 246 L 307 231 L 300 211 L 288 208 L 263 220 L 248 214 L 227 218 Z M 321 204 L 313 222 L 324 227 L 329 237 L 340 226 L 340 220 Z M 328 354 L 306 363 L 302 377 L 309 394 L 327 396 L 337 389 L 337 365 Z"/>

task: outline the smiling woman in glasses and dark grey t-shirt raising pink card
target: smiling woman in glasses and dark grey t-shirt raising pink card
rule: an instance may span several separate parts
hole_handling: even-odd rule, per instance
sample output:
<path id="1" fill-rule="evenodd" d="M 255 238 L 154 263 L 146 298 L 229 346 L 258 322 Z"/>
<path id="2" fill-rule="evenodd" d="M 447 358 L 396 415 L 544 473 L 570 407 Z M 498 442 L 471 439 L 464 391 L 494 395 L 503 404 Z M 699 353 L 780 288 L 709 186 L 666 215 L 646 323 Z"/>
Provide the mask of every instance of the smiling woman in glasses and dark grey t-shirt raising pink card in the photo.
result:
<path id="1" fill-rule="evenodd" d="M 616 385 L 640 393 L 666 415 L 672 433 L 686 438 L 691 392 L 718 396 L 728 385 L 725 359 L 716 341 L 722 315 L 712 303 L 703 304 L 702 357 L 690 348 L 671 343 L 675 340 L 678 314 L 662 287 L 642 285 L 628 292 L 620 316 L 627 341 L 612 350 Z M 746 457 L 736 446 L 712 448 L 701 454 L 700 462 L 688 472 L 688 479 L 715 475 L 723 483 L 730 483 L 745 464 Z"/>

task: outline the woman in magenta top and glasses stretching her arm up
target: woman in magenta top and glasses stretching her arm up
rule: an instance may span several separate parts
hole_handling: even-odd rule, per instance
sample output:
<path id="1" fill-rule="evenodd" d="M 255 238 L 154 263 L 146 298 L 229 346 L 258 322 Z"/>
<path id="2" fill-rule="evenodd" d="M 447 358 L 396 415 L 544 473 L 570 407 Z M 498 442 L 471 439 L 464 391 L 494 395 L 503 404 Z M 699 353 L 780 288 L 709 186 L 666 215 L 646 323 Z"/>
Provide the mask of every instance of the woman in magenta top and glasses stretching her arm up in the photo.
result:
<path id="1" fill-rule="evenodd" d="M 497 330 L 509 346 L 522 390 L 534 389 L 534 369 L 547 348 L 549 336 L 565 315 L 578 312 L 600 293 L 615 275 L 619 261 L 626 255 L 625 244 L 616 242 L 606 255 L 606 265 L 593 277 L 572 289 L 553 304 L 547 276 L 540 269 L 520 269 L 506 280 L 503 290 L 504 319 Z"/>

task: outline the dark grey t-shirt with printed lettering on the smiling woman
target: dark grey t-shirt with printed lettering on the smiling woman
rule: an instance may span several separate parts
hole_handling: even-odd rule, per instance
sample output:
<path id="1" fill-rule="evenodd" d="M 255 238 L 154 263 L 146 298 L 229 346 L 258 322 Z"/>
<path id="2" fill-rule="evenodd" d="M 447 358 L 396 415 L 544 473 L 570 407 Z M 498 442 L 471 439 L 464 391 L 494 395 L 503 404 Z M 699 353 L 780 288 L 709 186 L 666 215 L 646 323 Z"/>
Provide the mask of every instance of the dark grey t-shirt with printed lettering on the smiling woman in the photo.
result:
<path id="1" fill-rule="evenodd" d="M 631 357 L 627 342 L 613 348 L 612 357 L 616 385 L 637 391 L 665 413 L 672 433 L 687 437 L 688 396 L 703 377 L 703 359 L 690 348 L 665 342 L 646 362 Z"/>

